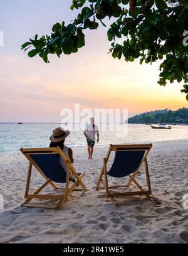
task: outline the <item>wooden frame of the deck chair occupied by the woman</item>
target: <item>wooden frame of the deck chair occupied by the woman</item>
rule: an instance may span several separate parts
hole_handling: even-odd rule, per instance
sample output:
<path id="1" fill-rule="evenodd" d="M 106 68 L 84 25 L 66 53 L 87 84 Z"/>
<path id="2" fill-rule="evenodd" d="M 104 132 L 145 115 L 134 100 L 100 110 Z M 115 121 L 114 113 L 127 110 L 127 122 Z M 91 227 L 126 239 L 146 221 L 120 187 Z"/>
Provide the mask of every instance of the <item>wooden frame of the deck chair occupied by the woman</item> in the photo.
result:
<path id="1" fill-rule="evenodd" d="M 29 168 L 28 168 L 28 176 L 27 176 L 27 181 L 26 181 L 26 188 L 25 188 L 25 193 L 24 193 L 24 198 L 26 199 L 24 203 L 21 206 L 26 206 L 26 207 L 39 207 L 39 208 L 55 208 L 56 210 L 60 209 L 61 206 L 65 205 L 66 201 L 68 200 L 68 196 L 70 196 L 71 192 L 73 190 L 85 190 L 87 191 L 88 189 L 86 188 L 85 184 L 81 180 L 83 176 L 85 175 L 85 171 L 81 173 L 79 176 L 73 165 L 71 164 L 70 160 L 65 156 L 63 151 L 61 151 L 60 147 L 48 147 L 48 148 L 31 148 L 31 149 L 23 149 L 21 148 L 20 151 L 24 154 L 24 156 L 28 159 L 29 161 Z M 48 179 L 43 171 L 38 167 L 38 165 L 31 159 L 29 154 L 41 154 L 40 151 L 46 152 L 46 154 L 60 154 L 60 156 L 63 158 L 63 160 L 66 162 L 66 183 L 65 183 L 65 194 L 62 195 L 39 195 L 39 192 L 46 187 L 46 185 L 50 184 L 53 189 L 58 189 L 55 183 Z M 27 153 L 29 152 L 29 154 Z M 30 186 L 30 181 L 31 181 L 31 171 L 32 167 L 36 168 L 37 171 L 43 176 L 44 179 L 46 179 L 46 182 L 38 188 L 33 194 L 29 193 L 29 186 Z M 70 172 L 75 176 L 75 183 L 73 183 L 71 186 L 69 184 L 70 182 Z M 82 189 L 76 188 L 78 184 L 81 185 Z M 29 203 L 31 200 L 34 198 L 38 199 L 44 199 L 44 200 L 58 200 L 58 203 L 55 206 L 51 205 L 38 205 L 38 204 L 31 204 Z"/>

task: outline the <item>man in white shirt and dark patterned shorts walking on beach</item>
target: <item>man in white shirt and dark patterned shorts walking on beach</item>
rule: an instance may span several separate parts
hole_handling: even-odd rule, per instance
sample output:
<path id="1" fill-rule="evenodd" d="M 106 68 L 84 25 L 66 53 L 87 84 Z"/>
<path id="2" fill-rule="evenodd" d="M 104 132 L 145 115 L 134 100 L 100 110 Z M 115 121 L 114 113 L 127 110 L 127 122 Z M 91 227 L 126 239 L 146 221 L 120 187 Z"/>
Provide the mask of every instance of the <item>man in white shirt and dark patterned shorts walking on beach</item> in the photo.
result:
<path id="1" fill-rule="evenodd" d="M 88 159 L 92 159 L 93 156 L 93 147 L 95 146 L 95 139 L 97 134 L 97 142 L 99 142 L 99 132 L 98 126 L 94 123 L 94 118 L 91 117 L 90 124 L 86 125 L 84 130 L 84 135 L 88 144 Z"/>

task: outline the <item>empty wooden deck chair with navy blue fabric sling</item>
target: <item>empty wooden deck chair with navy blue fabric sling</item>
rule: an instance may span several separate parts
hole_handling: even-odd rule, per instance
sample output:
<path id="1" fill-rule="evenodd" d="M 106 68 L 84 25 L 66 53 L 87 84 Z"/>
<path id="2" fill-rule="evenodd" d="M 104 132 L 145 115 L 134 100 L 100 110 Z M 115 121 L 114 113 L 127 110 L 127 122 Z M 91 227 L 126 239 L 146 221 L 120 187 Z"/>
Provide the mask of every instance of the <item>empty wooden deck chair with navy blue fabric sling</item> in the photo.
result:
<path id="1" fill-rule="evenodd" d="M 112 203 L 117 205 L 115 197 L 120 196 L 135 196 L 135 195 L 145 195 L 150 197 L 152 195 L 152 189 L 150 186 L 149 178 L 149 168 L 147 164 L 147 155 L 152 148 L 152 144 L 139 144 L 139 145 L 110 145 L 108 148 L 107 156 L 103 159 L 103 168 L 99 172 L 99 177 L 97 181 L 96 189 L 105 188 L 107 198 L 110 198 Z M 107 162 L 110 157 L 110 153 L 115 151 L 115 158 L 112 167 L 107 171 Z M 135 179 L 140 170 L 142 164 L 145 164 L 145 174 L 147 179 L 147 189 L 143 189 L 142 186 Z M 104 181 L 103 181 L 104 176 Z M 127 184 L 122 184 L 120 186 L 108 186 L 108 176 L 115 178 L 129 177 Z M 100 187 L 100 183 L 103 187 Z M 134 183 L 138 191 L 127 191 L 127 192 L 112 192 L 111 188 L 119 187 L 130 187 L 130 184 Z"/>

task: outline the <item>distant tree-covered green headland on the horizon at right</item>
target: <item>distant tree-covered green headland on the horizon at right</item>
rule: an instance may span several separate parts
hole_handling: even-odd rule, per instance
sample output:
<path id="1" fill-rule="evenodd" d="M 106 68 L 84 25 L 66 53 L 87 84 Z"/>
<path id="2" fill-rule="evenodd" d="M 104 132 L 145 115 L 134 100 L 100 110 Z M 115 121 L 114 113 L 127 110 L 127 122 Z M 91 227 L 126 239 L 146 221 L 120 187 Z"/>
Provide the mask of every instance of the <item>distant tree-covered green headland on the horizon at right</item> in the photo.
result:
<path id="1" fill-rule="evenodd" d="M 187 124 L 188 108 L 155 110 L 128 118 L 128 124 Z"/>

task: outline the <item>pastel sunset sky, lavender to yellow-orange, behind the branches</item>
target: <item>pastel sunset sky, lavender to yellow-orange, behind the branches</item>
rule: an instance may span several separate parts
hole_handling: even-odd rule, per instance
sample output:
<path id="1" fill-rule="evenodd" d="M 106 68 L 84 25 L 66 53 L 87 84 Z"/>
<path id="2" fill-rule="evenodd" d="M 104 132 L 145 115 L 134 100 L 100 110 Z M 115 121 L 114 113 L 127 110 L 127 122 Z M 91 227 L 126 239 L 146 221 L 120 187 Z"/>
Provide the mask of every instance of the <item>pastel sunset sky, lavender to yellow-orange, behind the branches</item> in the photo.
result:
<path id="1" fill-rule="evenodd" d="M 72 55 L 29 58 L 21 45 L 35 34 L 70 23 L 78 11 L 71 0 L 0 0 L 0 122 L 59 122 L 62 109 L 128 109 L 132 116 L 188 107 L 179 83 L 160 87 L 159 63 L 140 65 L 113 59 L 107 28 L 85 31 L 86 46 Z M 107 24 L 110 24 L 106 21 Z"/>

